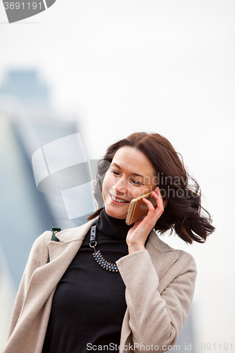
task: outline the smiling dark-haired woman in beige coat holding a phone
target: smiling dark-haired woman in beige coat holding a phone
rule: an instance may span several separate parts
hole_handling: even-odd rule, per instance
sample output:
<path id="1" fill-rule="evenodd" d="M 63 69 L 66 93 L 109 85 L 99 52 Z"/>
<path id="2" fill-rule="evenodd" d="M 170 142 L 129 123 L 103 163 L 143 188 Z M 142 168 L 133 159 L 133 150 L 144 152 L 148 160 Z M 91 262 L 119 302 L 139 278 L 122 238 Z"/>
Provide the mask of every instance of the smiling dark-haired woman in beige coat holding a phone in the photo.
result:
<path id="1" fill-rule="evenodd" d="M 157 133 L 111 145 L 98 165 L 90 222 L 59 232 L 59 242 L 44 232 L 32 246 L 3 353 L 171 349 L 191 308 L 196 268 L 191 255 L 156 232 L 174 229 L 191 244 L 214 231 L 191 180 Z M 143 198 L 146 217 L 126 225 L 131 200 L 148 191 L 157 208 Z"/>

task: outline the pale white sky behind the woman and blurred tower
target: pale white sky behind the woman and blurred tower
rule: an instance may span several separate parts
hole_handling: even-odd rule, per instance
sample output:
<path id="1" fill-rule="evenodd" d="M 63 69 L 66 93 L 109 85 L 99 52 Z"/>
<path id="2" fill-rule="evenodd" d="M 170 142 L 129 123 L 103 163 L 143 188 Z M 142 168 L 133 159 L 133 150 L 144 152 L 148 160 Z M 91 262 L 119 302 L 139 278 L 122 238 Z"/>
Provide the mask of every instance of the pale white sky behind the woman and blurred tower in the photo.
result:
<path id="1" fill-rule="evenodd" d="M 78 116 L 88 158 L 134 131 L 181 152 L 217 232 L 203 245 L 167 241 L 198 263 L 197 342 L 235 345 L 235 2 L 57 0 L 6 21 L 1 3 L 0 84 L 8 68 L 39 68 L 53 109 Z"/>

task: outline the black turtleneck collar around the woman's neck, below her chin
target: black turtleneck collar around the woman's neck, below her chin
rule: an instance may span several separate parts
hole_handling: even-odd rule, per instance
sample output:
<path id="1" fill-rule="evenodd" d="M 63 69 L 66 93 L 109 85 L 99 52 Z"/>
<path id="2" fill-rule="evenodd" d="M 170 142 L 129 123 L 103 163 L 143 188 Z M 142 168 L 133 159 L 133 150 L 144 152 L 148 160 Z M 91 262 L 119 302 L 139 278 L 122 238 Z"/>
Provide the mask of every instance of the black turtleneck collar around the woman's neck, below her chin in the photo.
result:
<path id="1" fill-rule="evenodd" d="M 126 239 L 128 230 L 133 227 L 133 225 L 126 225 L 126 220 L 119 220 L 117 218 L 110 217 L 104 208 L 100 213 L 100 218 L 98 218 L 96 226 L 98 232 L 101 232 L 105 236 L 115 240 Z"/>

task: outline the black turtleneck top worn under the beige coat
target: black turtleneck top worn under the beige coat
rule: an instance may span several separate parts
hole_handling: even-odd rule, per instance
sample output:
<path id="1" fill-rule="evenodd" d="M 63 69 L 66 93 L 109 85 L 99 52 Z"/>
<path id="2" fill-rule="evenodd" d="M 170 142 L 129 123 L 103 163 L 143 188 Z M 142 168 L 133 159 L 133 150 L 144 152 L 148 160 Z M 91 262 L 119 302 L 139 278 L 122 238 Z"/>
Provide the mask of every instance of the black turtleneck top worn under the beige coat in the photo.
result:
<path id="1" fill-rule="evenodd" d="M 107 261 L 128 254 L 126 234 L 133 225 L 105 210 L 95 224 L 96 250 Z M 89 242 L 90 230 L 56 287 L 42 353 L 119 352 L 125 285 L 119 273 L 98 265 Z"/>

